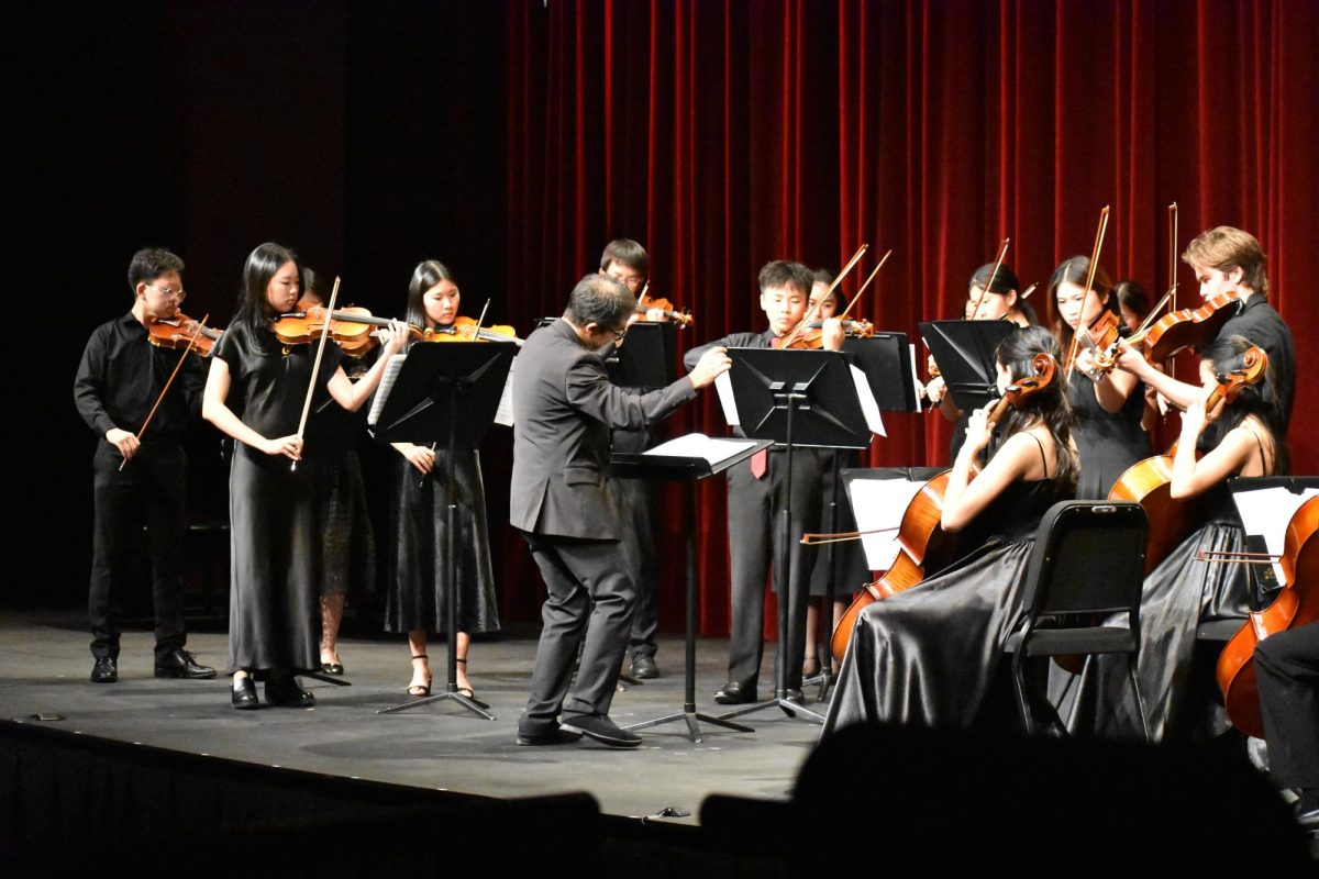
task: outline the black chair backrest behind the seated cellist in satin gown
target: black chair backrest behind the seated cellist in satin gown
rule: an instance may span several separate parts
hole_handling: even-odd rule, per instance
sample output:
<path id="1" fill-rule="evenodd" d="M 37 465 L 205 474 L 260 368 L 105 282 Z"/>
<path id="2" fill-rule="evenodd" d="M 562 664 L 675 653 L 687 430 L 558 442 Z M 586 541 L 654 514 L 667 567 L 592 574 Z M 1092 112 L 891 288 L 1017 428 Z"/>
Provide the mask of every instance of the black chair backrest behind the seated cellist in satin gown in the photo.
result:
<path id="1" fill-rule="evenodd" d="M 1030 617 L 1125 610 L 1134 621 L 1148 531 L 1140 503 L 1062 501 L 1049 507 L 1026 568 Z"/>

